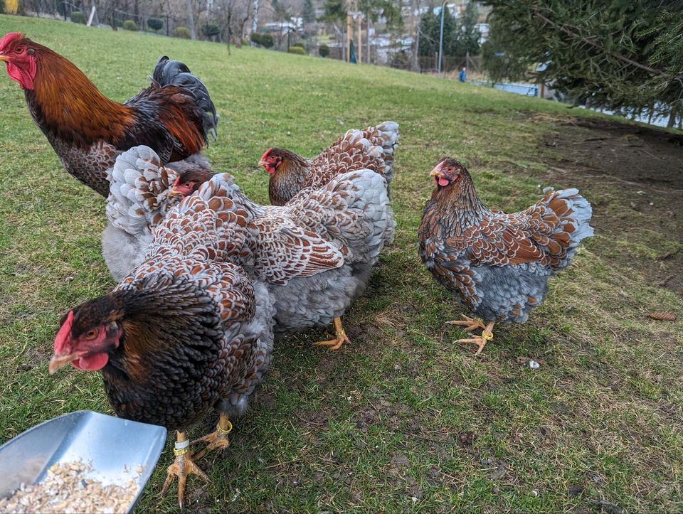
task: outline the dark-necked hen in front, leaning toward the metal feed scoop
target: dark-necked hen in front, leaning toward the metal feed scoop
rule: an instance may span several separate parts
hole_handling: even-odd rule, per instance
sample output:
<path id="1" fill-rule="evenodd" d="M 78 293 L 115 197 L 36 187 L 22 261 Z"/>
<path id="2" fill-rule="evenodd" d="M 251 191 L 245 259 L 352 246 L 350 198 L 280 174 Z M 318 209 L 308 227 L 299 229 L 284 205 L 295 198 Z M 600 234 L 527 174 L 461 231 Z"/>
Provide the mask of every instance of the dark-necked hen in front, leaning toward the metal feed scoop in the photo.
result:
<path id="1" fill-rule="evenodd" d="M 253 227 L 220 179 L 171 210 L 145 261 L 110 294 L 86 301 L 61 320 L 50 372 L 67 363 L 102 370 L 117 415 L 184 431 L 219 412 L 216 432 L 198 441 L 228 446 L 230 418 L 272 360 L 272 318 L 267 289 L 240 264 L 250 262 Z M 197 473 L 184 432 L 164 490 Z M 196 442 L 196 441 L 195 441 Z"/>

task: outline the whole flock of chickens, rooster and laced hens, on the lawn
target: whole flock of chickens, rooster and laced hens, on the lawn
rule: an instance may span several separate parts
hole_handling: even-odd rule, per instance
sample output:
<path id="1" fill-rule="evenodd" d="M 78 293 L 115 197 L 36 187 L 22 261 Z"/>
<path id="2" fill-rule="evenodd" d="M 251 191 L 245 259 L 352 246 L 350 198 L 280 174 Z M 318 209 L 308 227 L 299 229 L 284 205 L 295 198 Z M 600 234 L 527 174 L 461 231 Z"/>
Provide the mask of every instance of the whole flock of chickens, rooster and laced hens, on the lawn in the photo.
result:
<path id="1" fill-rule="evenodd" d="M 278 333 L 334 322 L 316 344 L 349 338 L 340 316 L 359 296 L 396 223 L 388 196 L 398 124 L 351 129 L 312 159 L 270 148 L 270 203 L 259 205 L 199 152 L 218 117 L 201 80 L 162 57 L 152 84 L 124 104 L 78 68 L 21 33 L 0 39 L 0 60 L 65 169 L 106 200 L 102 252 L 119 282 L 60 320 L 50 372 L 101 370 L 120 417 L 176 429 L 166 489 L 206 475 L 195 462 L 228 446 L 272 363 Z M 68 86 L 67 86 L 68 85 Z M 551 274 L 584 237 L 591 206 L 576 189 L 547 188 L 519 213 L 487 208 L 454 159 L 431 171 L 435 188 L 419 229 L 420 257 L 472 313 L 450 323 L 480 336 L 496 321 L 526 321 Z M 201 454 L 186 427 L 218 411 Z M 194 441 L 197 442 L 197 441 Z"/>

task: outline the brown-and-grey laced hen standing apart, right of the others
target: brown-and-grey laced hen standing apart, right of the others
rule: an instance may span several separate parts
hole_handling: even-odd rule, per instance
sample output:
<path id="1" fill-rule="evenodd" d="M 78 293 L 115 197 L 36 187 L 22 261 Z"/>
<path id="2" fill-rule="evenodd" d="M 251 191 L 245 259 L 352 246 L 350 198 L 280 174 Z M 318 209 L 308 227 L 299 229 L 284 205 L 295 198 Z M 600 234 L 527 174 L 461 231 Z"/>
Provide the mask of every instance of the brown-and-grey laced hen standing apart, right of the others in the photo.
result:
<path id="1" fill-rule="evenodd" d="M 571 263 L 584 237 L 593 235 L 591 205 L 576 189 L 544 189 L 545 196 L 519 213 L 502 213 L 477 197 L 472 177 L 455 159 L 432 170 L 436 187 L 420 224 L 420 257 L 435 279 L 474 314 L 449 321 L 481 336 L 479 355 L 496 321 L 523 323 L 548 291 L 548 279 Z"/>

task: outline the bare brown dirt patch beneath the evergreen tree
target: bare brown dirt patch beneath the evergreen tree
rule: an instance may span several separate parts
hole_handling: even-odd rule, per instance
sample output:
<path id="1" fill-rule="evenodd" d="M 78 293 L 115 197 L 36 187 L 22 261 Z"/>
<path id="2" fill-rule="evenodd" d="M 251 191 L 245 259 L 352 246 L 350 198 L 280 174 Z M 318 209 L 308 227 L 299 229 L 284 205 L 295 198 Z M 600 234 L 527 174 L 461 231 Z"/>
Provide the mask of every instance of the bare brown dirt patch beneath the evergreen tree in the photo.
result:
<path id="1" fill-rule="evenodd" d="M 683 295 L 683 250 L 676 247 L 683 240 L 683 136 L 603 119 L 571 119 L 558 122 L 539 149 L 548 156 L 549 181 L 576 186 L 591 200 L 596 230 L 633 233 L 661 247 L 648 257 L 612 248 L 610 258 Z"/>

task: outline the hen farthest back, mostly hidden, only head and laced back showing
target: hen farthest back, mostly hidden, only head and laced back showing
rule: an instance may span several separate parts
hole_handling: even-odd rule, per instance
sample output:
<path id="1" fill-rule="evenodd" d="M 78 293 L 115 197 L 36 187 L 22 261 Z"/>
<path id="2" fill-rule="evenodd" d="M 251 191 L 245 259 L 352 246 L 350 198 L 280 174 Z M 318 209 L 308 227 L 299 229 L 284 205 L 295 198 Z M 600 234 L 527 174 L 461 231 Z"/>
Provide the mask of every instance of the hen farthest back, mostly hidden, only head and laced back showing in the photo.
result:
<path id="1" fill-rule="evenodd" d="M 371 169 L 390 183 L 397 141 L 398 124 L 383 122 L 364 130 L 351 129 L 328 149 L 309 159 L 293 151 L 270 148 L 258 163 L 270 173 L 270 203 L 285 205 L 302 188 L 324 186 L 332 177 L 347 171 Z"/>

